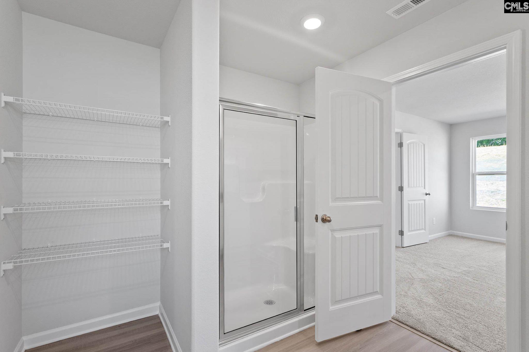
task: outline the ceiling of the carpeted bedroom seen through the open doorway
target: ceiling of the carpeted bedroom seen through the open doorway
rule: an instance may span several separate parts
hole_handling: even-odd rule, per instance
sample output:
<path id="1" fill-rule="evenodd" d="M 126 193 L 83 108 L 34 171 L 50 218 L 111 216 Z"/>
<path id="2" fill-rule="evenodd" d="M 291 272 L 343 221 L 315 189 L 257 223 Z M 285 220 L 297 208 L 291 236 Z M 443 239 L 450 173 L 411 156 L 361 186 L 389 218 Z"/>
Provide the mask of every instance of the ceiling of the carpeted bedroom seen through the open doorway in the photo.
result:
<path id="1" fill-rule="evenodd" d="M 505 116 L 505 53 L 398 85 L 395 103 L 397 111 L 446 123 Z"/>

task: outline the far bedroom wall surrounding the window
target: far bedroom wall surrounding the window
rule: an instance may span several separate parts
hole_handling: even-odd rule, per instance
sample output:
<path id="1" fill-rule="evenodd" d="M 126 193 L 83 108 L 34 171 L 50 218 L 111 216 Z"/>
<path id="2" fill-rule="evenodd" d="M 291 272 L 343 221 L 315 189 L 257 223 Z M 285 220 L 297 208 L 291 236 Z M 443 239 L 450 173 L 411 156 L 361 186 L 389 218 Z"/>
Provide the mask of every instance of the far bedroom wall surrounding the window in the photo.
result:
<path id="1" fill-rule="evenodd" d="M 504 134 L 505 117 L 455 123 L 451 126 L 452 231 L 505 239 L 505 212 L 471 209 L 472 137 Z"/>

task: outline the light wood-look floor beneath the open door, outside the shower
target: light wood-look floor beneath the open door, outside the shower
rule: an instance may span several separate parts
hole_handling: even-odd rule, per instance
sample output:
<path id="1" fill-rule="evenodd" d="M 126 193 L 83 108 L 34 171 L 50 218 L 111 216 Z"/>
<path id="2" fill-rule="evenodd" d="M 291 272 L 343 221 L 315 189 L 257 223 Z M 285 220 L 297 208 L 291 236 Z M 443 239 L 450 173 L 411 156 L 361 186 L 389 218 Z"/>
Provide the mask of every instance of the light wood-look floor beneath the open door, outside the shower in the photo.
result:
<path id="1" fill-rule="evenodd" d="M 311 327 L 262 348 L 260 351 L 447 352 L 448 350 L 393 321 L 386 321 L 321 343 L 314 340 L 314 327 Z"/>

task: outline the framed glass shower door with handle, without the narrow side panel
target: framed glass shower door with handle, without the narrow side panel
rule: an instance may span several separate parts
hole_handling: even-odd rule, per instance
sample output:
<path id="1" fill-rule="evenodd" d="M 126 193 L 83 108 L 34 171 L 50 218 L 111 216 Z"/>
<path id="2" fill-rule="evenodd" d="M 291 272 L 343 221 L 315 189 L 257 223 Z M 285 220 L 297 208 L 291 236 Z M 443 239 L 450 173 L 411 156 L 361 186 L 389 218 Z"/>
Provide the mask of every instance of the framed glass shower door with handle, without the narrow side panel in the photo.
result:
<path id="1" fill-rule="evenodd" d="M 298 309 L 296 116 L 222 115 L 221 337 Z"/>

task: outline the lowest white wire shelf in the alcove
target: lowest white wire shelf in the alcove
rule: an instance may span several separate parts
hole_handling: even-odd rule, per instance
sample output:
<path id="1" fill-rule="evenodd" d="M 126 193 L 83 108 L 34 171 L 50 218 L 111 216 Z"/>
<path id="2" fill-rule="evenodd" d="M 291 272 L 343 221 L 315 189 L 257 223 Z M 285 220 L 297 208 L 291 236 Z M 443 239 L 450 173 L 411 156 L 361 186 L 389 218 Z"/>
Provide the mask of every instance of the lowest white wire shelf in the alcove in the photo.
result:
<path id="1" fill-rule="evenodd" d="M 8 260 L 2 262 L 0 267 L 0 277 L 4 275 L 4 270 L 13 269 L 15 265 L 159 248 L 168 248 L 170 252 L 171 242 L 163 240 L 159 235 L 151 235 L 28 248 L 19 251 L 12 255 Z"/>

